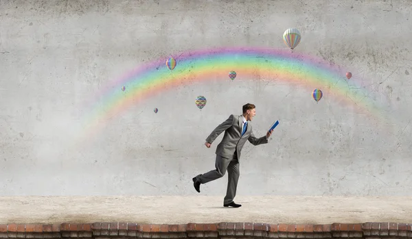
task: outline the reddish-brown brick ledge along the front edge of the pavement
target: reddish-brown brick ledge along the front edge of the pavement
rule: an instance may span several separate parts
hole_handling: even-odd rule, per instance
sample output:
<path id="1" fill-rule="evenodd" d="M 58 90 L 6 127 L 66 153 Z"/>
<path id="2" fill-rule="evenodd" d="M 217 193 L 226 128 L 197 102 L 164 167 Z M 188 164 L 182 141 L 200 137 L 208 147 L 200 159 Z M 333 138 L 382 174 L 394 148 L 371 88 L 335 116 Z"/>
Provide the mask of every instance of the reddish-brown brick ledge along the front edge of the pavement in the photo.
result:
<path id="1" fill-rule="evenodd" d="M 0 238 L 412 238 L 412 223 L 62 223 L 0 225 Z"/>

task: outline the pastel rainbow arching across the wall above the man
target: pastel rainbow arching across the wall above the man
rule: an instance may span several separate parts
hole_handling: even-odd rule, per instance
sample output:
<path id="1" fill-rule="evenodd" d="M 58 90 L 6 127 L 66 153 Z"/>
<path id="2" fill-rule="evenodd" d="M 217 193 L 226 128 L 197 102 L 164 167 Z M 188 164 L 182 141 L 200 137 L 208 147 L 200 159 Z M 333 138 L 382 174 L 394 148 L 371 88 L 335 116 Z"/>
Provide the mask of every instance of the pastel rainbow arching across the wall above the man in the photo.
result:
<path id="1" fill-rule="evenodd" d="M 256 71 L 268 80 L 285 81 L 312 90 L 319 88 L 323 95 L 339 103 L 350 103 L 357 110 L 379 116 L 380 108 L 366 97 L 369 92 L 356 86 L 356 77 L 346 79 L 346 71 L 320 58 L 289 50 L 231 47 L 183 52 L 174 55 L 176 68 L 166 66 L 170 56 L 135 68 L 126 75 L 107 84 L 93 99 L 91 110 L 85 116 L 84 125 L 97 127 L 106 118 L 121 114 L 132 104 L 154 97 L 164 90 L 171 90 L 182 84 L 192 84 L 208 79 L 229 79 L 229 72 L 236 71 L 240 79 L 254 80 Z M 353 69 L 352 69 L 353 71 Z M 122 91 L 122 87 L 126 91 Z M 309 100 L 313 101 L 312 98 Z M 315 101 L 314 101 L 315 102 Z M 319 102 L 321 103 L 321 101 Z"/>

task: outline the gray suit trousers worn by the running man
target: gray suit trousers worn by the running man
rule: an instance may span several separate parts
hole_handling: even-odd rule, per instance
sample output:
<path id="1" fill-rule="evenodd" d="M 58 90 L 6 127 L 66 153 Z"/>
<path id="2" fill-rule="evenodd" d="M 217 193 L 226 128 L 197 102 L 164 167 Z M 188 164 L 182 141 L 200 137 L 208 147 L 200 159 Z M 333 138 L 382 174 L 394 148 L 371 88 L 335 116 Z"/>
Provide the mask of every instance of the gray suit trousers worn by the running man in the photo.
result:
<path id="1" fill-rule="evenodd" d="M 206 184 L 209 181 L 223 177 L 227 171 L 227 191 L 223 203 L 229 204 L 235 198 L 236 188 L 238 187 L 238 179 L 240 175 L 238 156 L 236 153 L 233 155 L 233 158 L 223 158 L 220 155 L 216 155 L 215 167 L 215 170 L 196 176 L 196 180 L 201 184 Z"/>

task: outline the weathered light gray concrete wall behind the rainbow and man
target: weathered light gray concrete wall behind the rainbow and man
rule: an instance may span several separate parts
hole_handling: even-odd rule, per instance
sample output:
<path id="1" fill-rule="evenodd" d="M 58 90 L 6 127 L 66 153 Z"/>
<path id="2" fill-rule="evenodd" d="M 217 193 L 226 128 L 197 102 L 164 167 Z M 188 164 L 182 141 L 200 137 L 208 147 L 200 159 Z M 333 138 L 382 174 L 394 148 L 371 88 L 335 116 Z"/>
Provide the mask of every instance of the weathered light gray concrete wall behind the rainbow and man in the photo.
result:
<path id="1" fill-rule="evenodd" d="M 211 149 L 205 138 L 247 102 L 255 135 L 281 124 L 268 144 L 244 147 L 238 194 L 410 194 L 411 12 L 409 0 L 0 1 L 0 195 L 197 194 L 191 179 L 214 168 L 222 136 Z M 84 124 L 133 68 L 196 49 L 287 49 L 289 27 L 302 34 L 296 54 L 351 71 L 368 102 L 385 105 L 378 119 L 256 73 L 164 90 L 92 119 L 98 130 Z M 202 194 L 223 196 L 226 184 Z"/>

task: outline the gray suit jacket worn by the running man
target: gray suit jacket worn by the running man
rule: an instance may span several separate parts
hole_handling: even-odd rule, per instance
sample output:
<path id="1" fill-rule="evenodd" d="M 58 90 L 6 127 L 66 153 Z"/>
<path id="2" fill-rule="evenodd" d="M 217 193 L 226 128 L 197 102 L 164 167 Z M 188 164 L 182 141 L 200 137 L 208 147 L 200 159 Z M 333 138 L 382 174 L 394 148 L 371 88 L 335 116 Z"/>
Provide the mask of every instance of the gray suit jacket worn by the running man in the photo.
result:
<path id="1" fill-rule="evenodd" d="M 218 144 L 216 154 L 222 156 L 223 158 L 232 158 L 233 153 L 237 151 L 239 159 L 240 151 L 242 151 L 246 140 L 249 140 L 249 142 L 255 146 L 259 144 L 266 144 L 268 142 L 266 135 L 261 138 L 256 138 L 253 135 L 251 121 L 247 122 L 247 130 L 244 135 L 241 136 L 242 114 L 239 116 L 234 116 L 231 114 L 225 122 L 218 125 L 218 127 L 211 132 L 211 134 L 206 138 L 206 142 L 209 142 L 210 144 L 214 142 L 214 140 L 222 134 L 222 131 L 225 131 L 225 136 L 223 136 L 222 142 Z"/>

